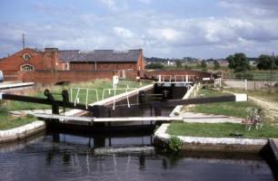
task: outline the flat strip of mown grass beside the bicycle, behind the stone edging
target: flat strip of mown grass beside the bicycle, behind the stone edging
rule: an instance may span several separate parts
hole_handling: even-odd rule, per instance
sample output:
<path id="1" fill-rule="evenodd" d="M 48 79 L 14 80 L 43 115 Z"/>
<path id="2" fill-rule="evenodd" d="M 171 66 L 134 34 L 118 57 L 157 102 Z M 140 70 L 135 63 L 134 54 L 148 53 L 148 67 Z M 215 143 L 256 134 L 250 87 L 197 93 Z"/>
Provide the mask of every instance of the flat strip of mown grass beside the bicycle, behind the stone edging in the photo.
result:
<path id="1" fill-rule="evenodd" d="M 278 138 L 278 128 L 264 124 L 262 129 L 245 130 L 243 124 L 233 123 L 182 123 L 172 122 L 167 133 L 175 136 L 233 138 L 243 135 L 243 138 Z"/>

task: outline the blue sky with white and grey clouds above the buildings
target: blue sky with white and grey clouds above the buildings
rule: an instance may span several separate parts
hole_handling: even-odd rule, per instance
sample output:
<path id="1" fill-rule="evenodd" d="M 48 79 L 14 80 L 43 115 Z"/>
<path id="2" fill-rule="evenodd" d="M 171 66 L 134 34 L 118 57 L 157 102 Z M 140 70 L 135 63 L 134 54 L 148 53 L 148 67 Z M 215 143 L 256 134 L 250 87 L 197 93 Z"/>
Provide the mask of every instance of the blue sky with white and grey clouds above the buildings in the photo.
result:
<path id="1" fill-rule="evenodd" d="M 1 0 L 0 57 L 25 46 L 209 59 L 278 53 L 277 0 Z"/>

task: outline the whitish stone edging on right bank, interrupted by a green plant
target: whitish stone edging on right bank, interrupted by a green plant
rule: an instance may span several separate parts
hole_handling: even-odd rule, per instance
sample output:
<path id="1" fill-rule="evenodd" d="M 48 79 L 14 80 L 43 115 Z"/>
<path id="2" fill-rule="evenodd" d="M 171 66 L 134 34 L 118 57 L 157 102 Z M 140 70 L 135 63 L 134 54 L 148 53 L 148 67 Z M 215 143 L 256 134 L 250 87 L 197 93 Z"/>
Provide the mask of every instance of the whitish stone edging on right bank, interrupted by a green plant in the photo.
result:
<path id="1" fill-rule="evenodd" d="M 169 134 L 166 133 L 166 130 L 170 124 L 162 124 L 159 129 L 157 129 L 154 133 L 154 139 L 162 142 L 168 142 L 169 138 L 171 137 Z M 189 145 L 194 145 L 197 146 L 194 148 L 198 149 L 198 147 L 203 147 L 203 146 L 225 146 L 225 147 L 230 147 L 231 149 L 234 149 L 234 146 L 241 147 L 241 151 L 243 151 L 243 146 L 246 147 L 254 147 L 251 149 L 259 149 L 263 148 L 267 143 L 268 139 L 267 138 L 204 138 L 204 137 L 184 137 L 184 136 L 177 136 L 180 138 L 183 142 L 183 145 L 189 146 Z M 183 147 L 184 148 L 184 147 Z M 204 148 L 201 148 L 204 150 Z M 212 147 L 209 148 L 210 150 Z M 219 150 L 219 148 L 215 148 L 215 150 Z M 224 148 L 225 151 L 226 148 Z M 250 149 L 250 148 L 248 148 Z M 230 150 L 230 151 L 236 151 Z"/>

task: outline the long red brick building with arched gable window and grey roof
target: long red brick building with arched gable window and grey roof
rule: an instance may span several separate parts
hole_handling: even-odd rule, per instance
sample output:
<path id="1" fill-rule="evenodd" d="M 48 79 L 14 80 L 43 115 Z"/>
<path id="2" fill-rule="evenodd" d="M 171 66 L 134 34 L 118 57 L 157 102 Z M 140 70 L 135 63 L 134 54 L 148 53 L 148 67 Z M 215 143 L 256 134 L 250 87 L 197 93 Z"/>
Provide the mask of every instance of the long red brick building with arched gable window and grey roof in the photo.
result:
<path id="1" fill-rule="evenodd" d="M 0 71 L 4 72 L 5 81 L 27 81 L 24 77 L 32 77 L 57 71 L 69 73 L 79 71 L 144 71 L 143 50 L 58 50 L 45 48 L 45 51 L 25 48 L 0 60 Z M 46 75 L 45 75 L 46 76 Z M 95 77 L 95 75 L 94 75 Z M 38 78 L 37 78 L 38 79 Z M 39 79 L 38 79 L 39 80 Z M 31 81 L 36 81 L 33 76 Z M 71 81 L 71 80 L 70 80 Z M 74 80 L 73 80 L 74 81 Z"/>

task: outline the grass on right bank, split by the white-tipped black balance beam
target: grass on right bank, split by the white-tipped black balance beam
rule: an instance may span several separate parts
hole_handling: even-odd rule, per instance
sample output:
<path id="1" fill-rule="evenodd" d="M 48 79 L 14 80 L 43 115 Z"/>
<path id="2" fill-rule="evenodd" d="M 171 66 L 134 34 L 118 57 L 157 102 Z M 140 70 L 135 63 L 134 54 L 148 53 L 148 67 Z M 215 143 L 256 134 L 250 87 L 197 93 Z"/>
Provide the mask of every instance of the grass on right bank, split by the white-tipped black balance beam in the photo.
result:
<path id="1" fill-rule="evenodd" d="M 201 89 L 198 91 L 196 97 L 213 97 L 223 95 L 229 95 L 229 93 L 219 90 Z M 246 118 L 246 109 L 250 107 L 258 108 L 258 106 L 254 104 L 253 101 L 248 100 L 243 102 L 207 102 L 205 104 L 194 105 L 193 107 L 184 107 L 184 111 Z"/>

